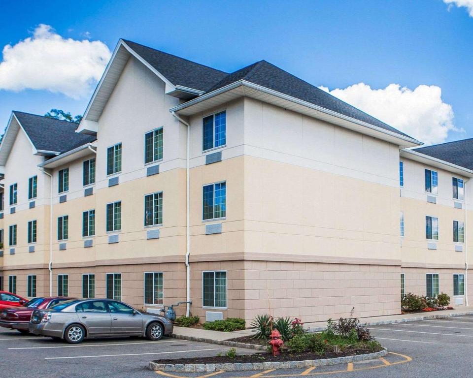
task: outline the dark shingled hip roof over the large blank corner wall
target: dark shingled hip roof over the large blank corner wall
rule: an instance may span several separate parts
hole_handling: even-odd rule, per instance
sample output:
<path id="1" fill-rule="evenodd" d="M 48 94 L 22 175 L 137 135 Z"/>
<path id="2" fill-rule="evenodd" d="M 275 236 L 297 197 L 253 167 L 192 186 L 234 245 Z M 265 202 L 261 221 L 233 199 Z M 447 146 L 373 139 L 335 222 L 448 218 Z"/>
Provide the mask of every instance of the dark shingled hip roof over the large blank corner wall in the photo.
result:
<path id="1" fill-rule="evenodd" d="M 305 82 L 298 77 L 282 70 L 274 64 L 266 61 L 253 63 L 236 72 L 233 72 L 223 78 L 219 83 L 209 89 L 208 92 L 225 87 L 238 80 L 245 80 L 251 83 L 270 88 L 284 95 L 290 95 L 300 100 L 310 102 L 311 104 L 321 106 L 325 109 L 332 110 L 339 114 L 354 118 L 367 124 L 381 127 L 385 130 L 395 132 L 397 134 L 407 136 L 404 132 L 385 124 L 382 121 L 362 112 L 361 110 L 347 104 L 337 97 L 328 94 L 325 91 Z"/>

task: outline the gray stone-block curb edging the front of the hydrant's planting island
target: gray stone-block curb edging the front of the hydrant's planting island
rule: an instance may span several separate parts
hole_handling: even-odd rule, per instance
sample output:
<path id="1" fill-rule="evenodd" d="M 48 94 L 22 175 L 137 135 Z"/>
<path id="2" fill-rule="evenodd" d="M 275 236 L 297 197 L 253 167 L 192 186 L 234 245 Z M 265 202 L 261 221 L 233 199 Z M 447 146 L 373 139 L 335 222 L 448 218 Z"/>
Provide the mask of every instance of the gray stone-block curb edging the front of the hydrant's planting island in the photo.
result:
<path id="1" fill-rule="evenodd" d="M 247 364 L 158 364 L 156 362 L 150 362 L 148 369 L 152 371 L 165 371 L 165 372 L 237 372 L 243 370 L 270 370 L 270 369 L 295 369 L 295 368 L 310 368 L 312 366 L 327 366 L 327 365 L 338 365 L 346 364 L 349 362 L 373 360 L 376 358 L 384 357 L 388 354 L 387 349 L 383 349 L 379 352 L 358 354 L 356 356 L 337 357 L 337 358 L 325 358 L 318 360 L 305 360 L 305 361 L 284 361 L 284 362 L 253 362 Z"/>

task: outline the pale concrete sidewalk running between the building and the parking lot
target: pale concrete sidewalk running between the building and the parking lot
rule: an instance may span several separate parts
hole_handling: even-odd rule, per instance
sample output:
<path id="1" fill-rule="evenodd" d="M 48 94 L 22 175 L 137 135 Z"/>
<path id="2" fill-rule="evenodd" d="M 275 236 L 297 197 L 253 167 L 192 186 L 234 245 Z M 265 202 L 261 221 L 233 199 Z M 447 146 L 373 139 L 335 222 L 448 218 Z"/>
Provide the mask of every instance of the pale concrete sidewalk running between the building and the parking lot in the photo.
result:
<path id="1" fill-rule="evenodd" d="M 456 310 L 445 310 L 435 311 L 428 313 L 416 313 L 416 314 L 400 314 L 400 315 L 388 315 L 388 316 L 374 316 L 360 318 L 362 323 L 367 325 L 380 325 L 380 324 L 391 324 L 391 323 L 404 323 L 409 321 L 418 321 L 425 319 L 442 318 L 447 316 L 461 316 L 461 315 L 473 315 L 473 307 L 462 307 Z M 337 319 L 334 319 L 337 320 Z M 313 323 L 304 323 L 304 328 L 308 328 L 311 332 L 322 331 L 327 326 L 326 321 L 319 321 Z M 199 341 L 205 343 L 216 343 L 231 345 L 227 341 L 237 337 L 250 336 L 256 333 L 255 329 L 244 329 L 242 331 L 235 332 L 220 332 L 220 331 L 207 331 L 203 328 L 185 328 L 185 327 L 174 327 L 173 337 L 177 339 L 185 339 L 192 341 Z"/>

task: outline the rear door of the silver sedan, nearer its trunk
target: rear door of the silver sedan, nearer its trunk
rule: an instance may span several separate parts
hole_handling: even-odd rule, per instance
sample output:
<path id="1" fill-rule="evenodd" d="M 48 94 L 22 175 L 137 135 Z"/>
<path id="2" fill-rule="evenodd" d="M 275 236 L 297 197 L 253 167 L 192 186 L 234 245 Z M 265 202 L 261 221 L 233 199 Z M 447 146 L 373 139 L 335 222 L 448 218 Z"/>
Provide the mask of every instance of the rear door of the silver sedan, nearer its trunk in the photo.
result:
<path id="1" fill-rule="evenodd" d="M 105 301 L 90 300 L 75 306 L 79 321 L 89 330 L 89 336 L 110 335 L 111 317 Z"/>

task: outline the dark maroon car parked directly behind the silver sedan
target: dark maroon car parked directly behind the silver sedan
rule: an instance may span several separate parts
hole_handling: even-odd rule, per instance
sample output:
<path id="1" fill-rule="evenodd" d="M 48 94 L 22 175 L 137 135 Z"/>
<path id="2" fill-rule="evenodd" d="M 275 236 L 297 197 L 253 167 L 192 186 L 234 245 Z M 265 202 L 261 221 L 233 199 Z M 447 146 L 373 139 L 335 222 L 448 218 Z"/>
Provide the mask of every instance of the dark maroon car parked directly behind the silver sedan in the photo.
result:
<path id="1" fill-rule="evenodd" d="M 34 310 L 45 310 L 60 302 L 73 298 L 66 297 L 48 297 L 33 298 L 31 301 L 24 303 L 22 307 L 11 307 L 0 310 L 0 327 L 17 329 L 21 333 L 28 333 L 28 324 Z M 18 306 L 18 305 L 17 305 Z"/>

